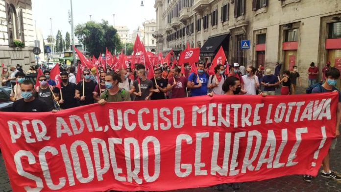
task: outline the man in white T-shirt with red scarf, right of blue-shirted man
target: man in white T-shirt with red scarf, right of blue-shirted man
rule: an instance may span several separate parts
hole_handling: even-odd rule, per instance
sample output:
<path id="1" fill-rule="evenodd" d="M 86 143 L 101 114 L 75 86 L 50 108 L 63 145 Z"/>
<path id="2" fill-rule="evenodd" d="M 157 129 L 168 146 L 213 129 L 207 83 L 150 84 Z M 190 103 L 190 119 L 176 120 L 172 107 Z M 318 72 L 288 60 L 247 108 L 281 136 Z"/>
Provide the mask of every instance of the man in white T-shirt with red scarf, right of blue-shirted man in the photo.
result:
<path id="1" fill-rule="evenodd" d="M 214 72 L 215 74 L 209 77 L 207 88 L 211 89 L 215 95 L 223 95 L 224 91 L 222 90 L 222 85 L 226 79 L 226 76 L 224 75 L 225 68 L 223 65 L 218 64 L 214 68 Z"/>

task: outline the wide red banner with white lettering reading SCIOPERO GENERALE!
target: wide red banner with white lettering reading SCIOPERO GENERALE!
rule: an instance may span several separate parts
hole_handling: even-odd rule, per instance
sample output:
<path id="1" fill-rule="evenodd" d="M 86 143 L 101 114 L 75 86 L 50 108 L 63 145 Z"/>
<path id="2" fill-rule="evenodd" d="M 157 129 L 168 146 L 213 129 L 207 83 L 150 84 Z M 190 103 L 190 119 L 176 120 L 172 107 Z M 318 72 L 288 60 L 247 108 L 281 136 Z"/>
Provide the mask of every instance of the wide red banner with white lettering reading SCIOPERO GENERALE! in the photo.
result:
<path id="1" fill-rule="evenodd" d="M 165 191 L 317 175 L 338 93 L 215 95 L 1 112 L 14 192 Z"/>

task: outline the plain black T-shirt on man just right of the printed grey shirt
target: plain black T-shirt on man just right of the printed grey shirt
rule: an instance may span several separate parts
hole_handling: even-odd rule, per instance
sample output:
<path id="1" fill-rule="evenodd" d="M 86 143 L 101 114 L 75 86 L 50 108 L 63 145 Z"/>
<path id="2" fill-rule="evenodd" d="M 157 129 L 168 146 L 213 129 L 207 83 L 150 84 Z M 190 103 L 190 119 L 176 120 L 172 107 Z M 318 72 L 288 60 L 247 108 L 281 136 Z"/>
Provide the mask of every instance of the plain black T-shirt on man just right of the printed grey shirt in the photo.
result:
<path id="1" fill-rule="evenodd" d="M 69 82 L 68 85 L 64 86 L 62 83 L 62 94 L 64 103 L 60 104 L 61 109 L 70 109 L 77 107 L 77 100 L 74 98 L 74 92 L 76 90 L 76 84 Z M 61 97 L 59 97 L 61 99 Z"/>

